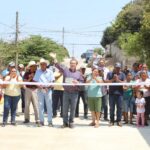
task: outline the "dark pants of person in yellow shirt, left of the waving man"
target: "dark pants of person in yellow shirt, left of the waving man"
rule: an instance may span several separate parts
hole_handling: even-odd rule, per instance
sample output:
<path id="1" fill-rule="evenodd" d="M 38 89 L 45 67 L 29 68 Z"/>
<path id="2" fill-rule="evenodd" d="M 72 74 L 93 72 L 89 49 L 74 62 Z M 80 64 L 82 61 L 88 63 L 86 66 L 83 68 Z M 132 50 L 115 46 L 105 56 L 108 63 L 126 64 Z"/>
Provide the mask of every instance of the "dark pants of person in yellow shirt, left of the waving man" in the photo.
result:
<path id="1" fill-rule="evenodd" d="M 60 116 L 63 114 L 63 91 L 61 90 L 54 90 L 53 91 L 53 116 L 57 116 L 57 108 L 58 104 L 60 102 L 60 108 L 61 108 L 61 113 Z"/>

